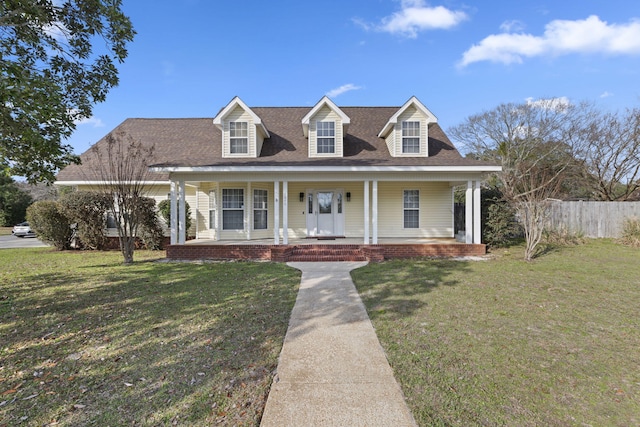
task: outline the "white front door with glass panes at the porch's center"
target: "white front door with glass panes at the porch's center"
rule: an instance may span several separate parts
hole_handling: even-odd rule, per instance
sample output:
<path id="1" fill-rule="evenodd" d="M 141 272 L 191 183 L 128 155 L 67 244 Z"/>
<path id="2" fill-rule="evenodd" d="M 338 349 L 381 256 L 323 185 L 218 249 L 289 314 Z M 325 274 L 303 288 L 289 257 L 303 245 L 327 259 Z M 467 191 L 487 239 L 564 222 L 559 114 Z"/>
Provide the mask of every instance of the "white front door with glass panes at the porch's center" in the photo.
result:
<path id="1" fill-rule="evenodd" d="M 343 236 L 342 190 L 307 190 L 307 235 Z"/>

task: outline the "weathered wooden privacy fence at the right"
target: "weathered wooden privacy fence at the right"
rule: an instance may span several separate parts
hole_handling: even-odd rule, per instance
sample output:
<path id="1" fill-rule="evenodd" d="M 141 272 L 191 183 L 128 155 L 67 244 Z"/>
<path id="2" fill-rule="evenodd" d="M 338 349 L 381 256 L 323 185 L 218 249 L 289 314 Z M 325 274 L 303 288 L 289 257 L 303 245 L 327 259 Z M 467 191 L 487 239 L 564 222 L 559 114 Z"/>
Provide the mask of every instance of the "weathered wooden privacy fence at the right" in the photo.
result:
<path id="1" fill-rule="evenodd" d="M 549 226 L 585 237 L 620 237 L 625 218 L 640 218 L 640 202 L 551 202 Z"/>

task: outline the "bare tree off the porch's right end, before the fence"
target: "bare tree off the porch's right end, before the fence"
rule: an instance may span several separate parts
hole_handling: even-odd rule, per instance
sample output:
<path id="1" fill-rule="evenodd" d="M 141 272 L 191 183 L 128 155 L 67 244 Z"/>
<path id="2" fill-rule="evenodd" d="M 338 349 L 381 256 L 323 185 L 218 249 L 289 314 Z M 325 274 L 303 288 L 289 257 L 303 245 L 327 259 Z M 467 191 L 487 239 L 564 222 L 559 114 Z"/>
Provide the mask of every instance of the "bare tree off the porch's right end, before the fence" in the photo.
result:
<path id="1" fill-rule="evenodd" d="M 540 243 L 548 199 L 558 194 L 563 174 L 575 164 L 577 130 L 589 110 L 588 104 L 558 98 L 502 104 L 448 131 L 474 156 L 502 165 L 497 182 L 522 222 L 526 260 Z"/>

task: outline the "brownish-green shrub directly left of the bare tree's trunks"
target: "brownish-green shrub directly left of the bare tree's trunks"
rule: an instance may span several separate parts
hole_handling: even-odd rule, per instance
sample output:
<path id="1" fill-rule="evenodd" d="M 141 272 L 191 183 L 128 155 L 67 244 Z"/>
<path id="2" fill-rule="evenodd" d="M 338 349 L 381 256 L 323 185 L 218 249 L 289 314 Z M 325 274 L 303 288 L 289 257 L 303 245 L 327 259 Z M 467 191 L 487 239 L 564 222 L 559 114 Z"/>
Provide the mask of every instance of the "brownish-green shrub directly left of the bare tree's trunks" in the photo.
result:
<path id="1" fill-rule="evenodd" d="M 106 194 L 74 191 L 64 194 L 59 203 L 69 221 L 76 224 L 80 247 L 98 250 L 107 248 L 105 228 L 109 200 Z"/>

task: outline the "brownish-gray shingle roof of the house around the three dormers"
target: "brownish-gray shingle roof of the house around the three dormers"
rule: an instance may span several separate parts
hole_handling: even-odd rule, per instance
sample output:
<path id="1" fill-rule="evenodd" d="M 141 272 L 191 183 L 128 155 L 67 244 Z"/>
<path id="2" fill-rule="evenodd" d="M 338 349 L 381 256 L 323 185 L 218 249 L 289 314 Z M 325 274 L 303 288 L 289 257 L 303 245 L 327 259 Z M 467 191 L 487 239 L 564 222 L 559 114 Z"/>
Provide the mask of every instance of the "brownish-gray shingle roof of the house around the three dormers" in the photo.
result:
<path id="1" fill-rule="evenodd" d="M 311 107 L 252 108 L 271 135 L 255 159 L 222 158 L 222 133 L 213 118 L 127 119 L 114 133 L 124 132 L 145 145 L 155 145 L 149 159 L 154 166 L 493 166 L 462 157 L 438 124 L 429 127 L 429 157 L 391 157 L 378 132 L 399 108 L 341 107 L 351 118 L 342 158 L 308 158 L 301 121 Z M 104 141 L 102 138 L 96 146 Z M 60 171 L 58 181 L 86 180 L 86 170 L 97 166 L 87 153 L 81 159 L 82 166 L 70 165 Z M 168 175 L 154 173 L 150 179 L 167 180 Z"/>

